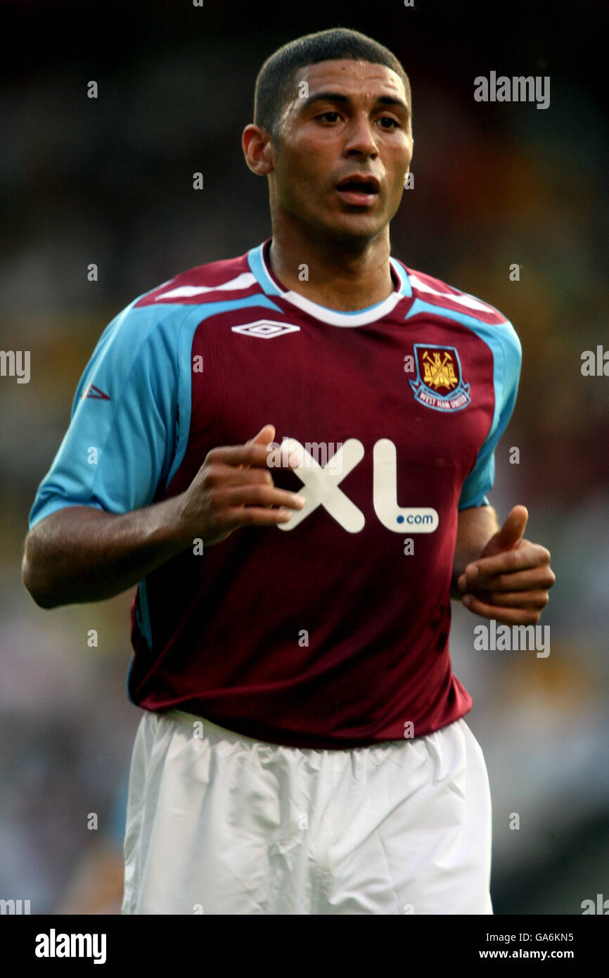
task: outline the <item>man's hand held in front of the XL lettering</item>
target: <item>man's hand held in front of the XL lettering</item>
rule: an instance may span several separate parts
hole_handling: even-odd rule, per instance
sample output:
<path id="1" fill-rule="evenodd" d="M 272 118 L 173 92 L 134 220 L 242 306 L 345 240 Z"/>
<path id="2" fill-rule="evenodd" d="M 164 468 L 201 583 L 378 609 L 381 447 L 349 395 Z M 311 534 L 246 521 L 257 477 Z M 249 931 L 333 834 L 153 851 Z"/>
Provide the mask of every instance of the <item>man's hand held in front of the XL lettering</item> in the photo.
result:
<path id="1" fill-rule="evenodd" d="M 276 526 L 291 517 L 291 510 L 302 510 L 305 500 L 297 493 L 277 489 L 268 460 L 273 465 L 291 468 L 297 460 L 287 453 L 278 459 L 277 448 L 270 447 L 275 426 L 265 424 L 244 445 L 212 448 L 191 485 L 176 500 L 180 536 L 186 545 L 196 537 L 203 544 L 225 540 L 239 526 Z"/>

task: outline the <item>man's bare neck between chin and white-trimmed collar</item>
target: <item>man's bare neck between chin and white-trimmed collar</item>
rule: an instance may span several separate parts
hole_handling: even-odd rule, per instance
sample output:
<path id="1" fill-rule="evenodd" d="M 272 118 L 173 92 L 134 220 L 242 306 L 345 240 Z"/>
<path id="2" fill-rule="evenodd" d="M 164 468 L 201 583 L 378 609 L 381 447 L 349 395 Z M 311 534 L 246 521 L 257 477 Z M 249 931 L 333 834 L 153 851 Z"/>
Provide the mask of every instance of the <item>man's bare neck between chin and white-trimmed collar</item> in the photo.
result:
<path id="1" fill-rule="evenodd" d="M 395 289 L 388 237 L 349 251 L 339 242 L 294 240 L 274 230 L 269 262 L 283 289 L 340 312 L 366 309 Z"/>

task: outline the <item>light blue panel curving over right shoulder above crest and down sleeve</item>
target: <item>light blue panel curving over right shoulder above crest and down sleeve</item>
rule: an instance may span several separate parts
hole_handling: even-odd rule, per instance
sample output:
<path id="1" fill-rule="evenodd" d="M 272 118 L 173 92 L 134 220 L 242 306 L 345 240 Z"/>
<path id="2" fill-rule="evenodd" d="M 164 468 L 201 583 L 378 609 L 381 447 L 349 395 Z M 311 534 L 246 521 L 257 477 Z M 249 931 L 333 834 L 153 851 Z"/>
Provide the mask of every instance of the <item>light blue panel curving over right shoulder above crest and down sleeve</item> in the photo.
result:
<path id="1" fill-rule="evenodd" d="M 407 319 L 421 312 L 433 313 L 434 316 L 442 314 L 438 306 L 417 299 Z M 451 312 L 446 315 L 467 327 L 472 333 L 476 333 L 490 347 L 493 354 L 495 413 L 489 433 L 478 453 L 476 464 L 465 479 L 461 490 L 458 509 L 468 510 L 471 507 L 490 505 L 486 494 L 493 488 L 495 481 L 495 449 L 516 403 L 522 346 L 518 334 L 508 320 L 491 326 L 466 313 Z"/>

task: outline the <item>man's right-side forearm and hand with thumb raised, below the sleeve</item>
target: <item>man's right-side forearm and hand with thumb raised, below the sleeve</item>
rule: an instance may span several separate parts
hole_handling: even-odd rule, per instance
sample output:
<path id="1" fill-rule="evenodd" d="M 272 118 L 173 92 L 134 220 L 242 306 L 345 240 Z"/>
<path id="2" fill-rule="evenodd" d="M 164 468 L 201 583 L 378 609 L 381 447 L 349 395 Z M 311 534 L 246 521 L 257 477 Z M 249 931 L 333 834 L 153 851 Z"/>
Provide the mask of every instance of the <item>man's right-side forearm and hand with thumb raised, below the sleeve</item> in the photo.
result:
<path id="1" fill-rule="evenodd" d="M 522 536 L 528 518 L 515 506 L 499 527 L 492 507 L 459 511 L 451 597 L 485 618 L 537 624 L 556 578 L 549 551 Z"/>

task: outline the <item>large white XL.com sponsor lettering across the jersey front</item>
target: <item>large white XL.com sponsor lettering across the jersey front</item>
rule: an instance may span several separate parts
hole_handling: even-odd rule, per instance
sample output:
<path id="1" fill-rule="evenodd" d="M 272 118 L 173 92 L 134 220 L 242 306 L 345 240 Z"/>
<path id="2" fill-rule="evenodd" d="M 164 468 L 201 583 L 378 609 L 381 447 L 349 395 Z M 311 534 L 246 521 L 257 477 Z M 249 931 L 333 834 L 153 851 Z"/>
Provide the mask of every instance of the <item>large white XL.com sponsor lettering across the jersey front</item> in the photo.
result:
<path id="1" fill-rule="evenodd" d="M 339 443 L 340 444 L 340 443 Z M 322 506 L 348 533 L 360 533 L 366 519 L 364 513 L 339 488 L 349 472 L 364 458 L 364 445 L 358 438 L 348 438 L 326 464 L 321 466 L 295 438 L 284 438 L 281 450 L 296 455 L 299 465 L 293 468 L 304 485 L 298 490 L 306 503 L 302 510 L 292 511 L 289 523 L 279 529 L 289 531 L 299 526 L 318 507 Z M 398 506 L 397 452 L 389 438 L 379 438 L 372 449 L 372 504 L 384 527 L 394 533 L 433 533 L 440 522 L 431 507 Z M 338 456 L 338 457 L 336 457 Z"/>

